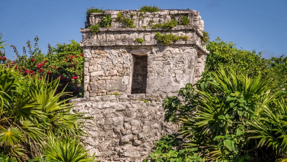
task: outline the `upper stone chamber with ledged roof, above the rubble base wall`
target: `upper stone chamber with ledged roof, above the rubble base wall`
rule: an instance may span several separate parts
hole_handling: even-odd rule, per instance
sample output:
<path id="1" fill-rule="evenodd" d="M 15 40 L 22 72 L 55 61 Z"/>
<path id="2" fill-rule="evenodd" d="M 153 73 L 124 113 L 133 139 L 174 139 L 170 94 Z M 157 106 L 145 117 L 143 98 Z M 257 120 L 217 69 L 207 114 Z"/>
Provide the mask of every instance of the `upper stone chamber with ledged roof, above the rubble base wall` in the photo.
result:
<path id="1" fill-rule="evenodd" d="M 132 17 L 136 28 L 124 28 L 123 24 L 118 23 L 115 19 L 119 12 L 124 17 Z M 140 13 L 134 10 L 107 10 L 92 13 L 86 25 L 99 24 L 107 14 L 112 17 L 111 28 L 100 28 L 97 33 L 90 32 L 88 28 L 81 29 L 83 40 L 80 45 L 84 48 L 85 56 L 85 97 L 115 92 L 174 93 L 186 83 L 194 83 L 203 72 L 208 51 L 202 46 L 204 24 L 197 11 Z M 189 25 L 177 25 L 170 30 L 143 28 L 149 25 L 150 20 L 156 24 L 173 18 L 180 23 L 182 16 L 189 17 Z M 189 39 L 164 46 L 155 39 L 158 31 L 187 36 Z M 136 38 L 142 38 L 145 42 L 136 43 Z M 138 56 L 147 60 L 142 68 L 135 66 Z M 136 75 L 137 71 L 142 71 L 142 75 Z M 139 83 L 146 89 L 132 91 L 141 86 Z"/>

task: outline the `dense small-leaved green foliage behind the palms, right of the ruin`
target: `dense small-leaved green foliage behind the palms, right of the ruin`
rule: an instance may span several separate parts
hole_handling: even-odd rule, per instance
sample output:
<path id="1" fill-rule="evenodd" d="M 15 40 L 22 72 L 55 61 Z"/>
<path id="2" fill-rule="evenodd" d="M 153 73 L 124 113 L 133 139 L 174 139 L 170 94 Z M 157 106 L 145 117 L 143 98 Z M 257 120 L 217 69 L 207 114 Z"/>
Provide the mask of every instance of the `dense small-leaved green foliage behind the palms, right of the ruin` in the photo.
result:
<path id="1" fill-rule="evenodd" d="M 210 51 L 207 55 L 206 66 L 209 70 L 216 70 L 219 66 L 231 68 L 237 74 L 248 74 L 248 76 L 261 75 L 261 79 L 271 79 L 268 86 L 272 91 L 287 90 L 287 57 L 261 57 L 261 52 L 242 50 L 235 47 L 233 42 L 224 42 L 217 38 L 209 42 L 206 49 Z"/>

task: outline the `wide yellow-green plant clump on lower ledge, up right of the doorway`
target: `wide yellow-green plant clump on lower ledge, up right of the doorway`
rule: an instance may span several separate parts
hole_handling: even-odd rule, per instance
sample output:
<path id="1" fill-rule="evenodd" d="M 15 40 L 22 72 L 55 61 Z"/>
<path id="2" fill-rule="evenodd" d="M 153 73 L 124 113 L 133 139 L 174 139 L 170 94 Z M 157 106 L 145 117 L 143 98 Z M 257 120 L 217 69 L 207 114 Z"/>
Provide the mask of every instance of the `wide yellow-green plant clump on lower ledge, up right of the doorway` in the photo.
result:
<path id="1" fill-rule="evenodd" d="M 187 40 L 188 36 L 176 36 L 172 33 L 170 34 L 161 34 L 160 32 L 155 33 L 155 39 L 158 42 L 161 42 L 164 45 L 169 45 L 171 42 L 176 42 L 178 40 Z"/>

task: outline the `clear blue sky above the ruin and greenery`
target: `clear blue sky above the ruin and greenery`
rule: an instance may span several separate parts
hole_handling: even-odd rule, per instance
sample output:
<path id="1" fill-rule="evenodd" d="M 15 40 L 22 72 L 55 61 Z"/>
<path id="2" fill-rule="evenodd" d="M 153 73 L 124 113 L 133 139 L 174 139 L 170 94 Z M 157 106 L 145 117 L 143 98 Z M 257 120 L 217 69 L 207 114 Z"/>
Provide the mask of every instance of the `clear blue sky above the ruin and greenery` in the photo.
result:
<path id="1" fill-rule="evenodd" d="M 286 0 L 1 0 L 0 32 L 2 40 L 17 47 L 18 52 L 28 39 L 39 37 L 43 52 L 48 43 L 80 42 L 85 10 L 91 6 L 104 9 L 138 9 L 157 5 L 162 9 L 192 9 L 200 12 L 211 40 L 220 37 L 245 50 L 262 51 L 265 58 L 286 54 Z M 6 47 L 8 58 L 14 55 Z M 12 58 L 13 59 L 13 58 Z"/>

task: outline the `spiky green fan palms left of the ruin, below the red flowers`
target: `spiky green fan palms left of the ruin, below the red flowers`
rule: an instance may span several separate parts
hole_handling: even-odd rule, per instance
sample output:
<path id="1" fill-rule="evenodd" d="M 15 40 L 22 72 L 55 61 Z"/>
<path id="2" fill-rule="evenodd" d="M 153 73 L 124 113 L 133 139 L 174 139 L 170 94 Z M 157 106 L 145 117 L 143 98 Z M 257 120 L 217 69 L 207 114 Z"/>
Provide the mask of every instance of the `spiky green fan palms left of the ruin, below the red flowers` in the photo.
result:
<path id="1" fill-rule="evenodd" d="M 48 134 L 61 135 L 58 140 L 69 137 L 77 144 L 79 136 L 85 136 L 81 119 L 89 117 L 84 117 L 85 113 L 69 113 L 73 106 L 67 101 L 71 98 L 60 100 L 69 93 L 64 89 L 56 93 L 59 81 L 59 78 L 50 80 L 47 75 L 42 78 L 37 74 L 23 77 L 15 67 L 0 65 L 0 160 L 39 159 L 45 148 L 51 147 Z M 75 145 L 75 142 L 70 145 Z M 61 147 L 63 149 L 64 145 Z M 76 150 L 78 154 L 75 156 L 82 156 L 85 148 L 82 145 L 77 147 L 81 151 Z M 45 152 L 45 156 L 51 158 L 56 155 Z M 82 159 L 91 161 L 87 154 Z M 51 160 L 60 161 L 59 158 Z"/>

